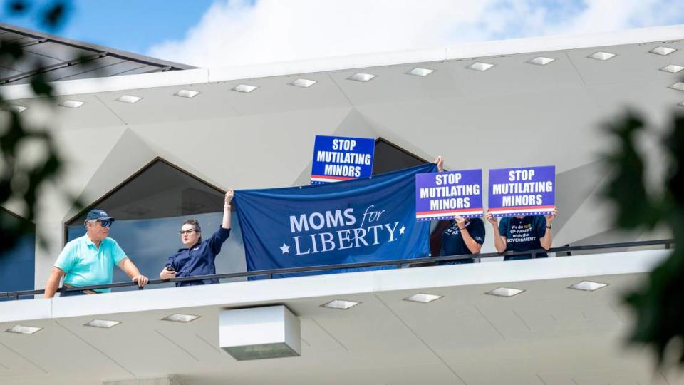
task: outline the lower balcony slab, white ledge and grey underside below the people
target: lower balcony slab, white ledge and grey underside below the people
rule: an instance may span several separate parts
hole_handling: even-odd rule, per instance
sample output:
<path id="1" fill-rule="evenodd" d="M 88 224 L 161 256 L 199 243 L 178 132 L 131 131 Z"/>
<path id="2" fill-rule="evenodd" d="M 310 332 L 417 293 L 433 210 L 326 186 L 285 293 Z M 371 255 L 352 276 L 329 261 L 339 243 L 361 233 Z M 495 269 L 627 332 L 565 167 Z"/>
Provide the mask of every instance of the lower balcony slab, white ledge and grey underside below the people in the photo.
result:
<path id="1" fill-rule="evenodd" d="M 625 350 L 622 296 L 667 250 L 487 262 L 145 289 L 0 303 L 0 378 L 93 384 L 175 374 L 190 384 L 648 382 L 648 355 Z M 582 279 L 609 284 L 568 289 Z M 511 298 L 484 294 L 526 290 Z M 444 296 L 407 302 L 423 292 Z M 361 304 L 321 307 L 331 299 Z M 302 355 L 238 362 L 218 347 L 222 309 L 284 304 L 301 319 Z M 201 316 L 180 324 L 172 313 Z M 112 329 L 83 324 L 121 322 Z M 78 372 L 78 379 L 74 373 Z M 675 377 L 670 377 L 674 379 Z M 81 381 L 81 382 L 79 382 Z"/>

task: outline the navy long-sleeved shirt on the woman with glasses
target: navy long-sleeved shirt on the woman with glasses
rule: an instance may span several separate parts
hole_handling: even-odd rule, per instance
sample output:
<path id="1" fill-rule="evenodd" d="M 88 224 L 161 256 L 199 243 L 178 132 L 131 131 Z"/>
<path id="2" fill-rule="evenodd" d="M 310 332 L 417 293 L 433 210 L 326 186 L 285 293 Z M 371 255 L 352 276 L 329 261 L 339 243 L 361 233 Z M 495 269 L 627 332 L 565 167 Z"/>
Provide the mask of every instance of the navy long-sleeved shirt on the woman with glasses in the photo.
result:
<path id="1" fill-rule="evenodd" d="M 176 277 L 192 277 L 195 275 L 216 274 L 214 260 L 216 255 L 221 252 L 223 242 L 230 236 L 230 229 L 220 227 L 217 232 L 197 243 L 190 249 L 180 249 L 177 253 L 169 257 L 166 265 L 170 265 L 176 270 Z M 197 284 L 217 284 L 218 279 L 204 279 L 188 282 L 176 282 L 176 286 L 195 286 Z"/>

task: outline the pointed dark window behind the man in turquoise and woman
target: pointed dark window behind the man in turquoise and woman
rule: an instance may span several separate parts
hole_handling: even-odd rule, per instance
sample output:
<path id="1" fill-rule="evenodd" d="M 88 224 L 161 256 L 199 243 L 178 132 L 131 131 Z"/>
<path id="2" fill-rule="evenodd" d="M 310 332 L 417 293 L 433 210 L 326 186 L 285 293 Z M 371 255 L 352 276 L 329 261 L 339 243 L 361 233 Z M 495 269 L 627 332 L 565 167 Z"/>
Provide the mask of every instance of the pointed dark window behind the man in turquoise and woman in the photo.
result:
<path id="1" fill-rule="evenodd" d="M 110 237 L 118 242 L 142 274 L 159 279 L 167 258 L 184 247 L 178 234 L 184 220 L 190 217 L 199 220 L 204 238 L 218 230 L 223 217 L 223 194 L 219 188 L 175 165 L 156 159 L 69 220 L 66 238 L 71 241 L 86 234 L 84 222 L 88 211 L 93 208 L 105 210 L 115 218 Z M 237 222 L 234 215 L 230 238 L 216 259 L 217 272 L 245 270 L 242 235 Z M 114 268 L 114 282 L 128 279 L 118 267 Z"/>

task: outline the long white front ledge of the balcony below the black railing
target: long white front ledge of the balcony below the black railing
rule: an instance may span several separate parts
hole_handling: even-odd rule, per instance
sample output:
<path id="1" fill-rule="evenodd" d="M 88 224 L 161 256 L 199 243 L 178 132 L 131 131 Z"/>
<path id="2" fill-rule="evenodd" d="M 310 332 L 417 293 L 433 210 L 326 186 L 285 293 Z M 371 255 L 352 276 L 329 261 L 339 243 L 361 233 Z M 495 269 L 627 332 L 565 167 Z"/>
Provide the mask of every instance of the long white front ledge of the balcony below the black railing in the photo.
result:
<path id="1" fill-rule="evenodd" d="M 279 303 L 288 299 L 334 297 L 344 294 L 634 274 L 651 271 L 669 255 L 669 252 L 670 250 L 614 252 L 537 260 L 264 279 L 54 299 L 26 299 L 0 302 L 0 322 L 187 307 L 242 307 L 249 304 Z"/>

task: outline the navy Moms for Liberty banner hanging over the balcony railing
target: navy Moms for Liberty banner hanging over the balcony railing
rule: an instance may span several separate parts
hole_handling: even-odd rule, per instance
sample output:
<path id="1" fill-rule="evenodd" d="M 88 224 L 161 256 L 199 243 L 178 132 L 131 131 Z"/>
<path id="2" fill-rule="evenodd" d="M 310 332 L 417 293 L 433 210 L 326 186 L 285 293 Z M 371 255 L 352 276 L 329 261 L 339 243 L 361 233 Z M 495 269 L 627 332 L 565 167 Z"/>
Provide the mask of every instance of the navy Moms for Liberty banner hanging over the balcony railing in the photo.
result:
<path id="1" fill-rule="evenodd" d="M 340 183 L 236 191 L 247 270 L 427 256 L 430 222 L 415 221 L 415 175 L 435 168 L 430 163 Z"/>

